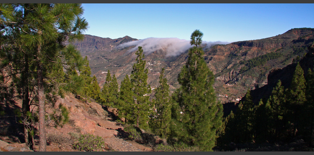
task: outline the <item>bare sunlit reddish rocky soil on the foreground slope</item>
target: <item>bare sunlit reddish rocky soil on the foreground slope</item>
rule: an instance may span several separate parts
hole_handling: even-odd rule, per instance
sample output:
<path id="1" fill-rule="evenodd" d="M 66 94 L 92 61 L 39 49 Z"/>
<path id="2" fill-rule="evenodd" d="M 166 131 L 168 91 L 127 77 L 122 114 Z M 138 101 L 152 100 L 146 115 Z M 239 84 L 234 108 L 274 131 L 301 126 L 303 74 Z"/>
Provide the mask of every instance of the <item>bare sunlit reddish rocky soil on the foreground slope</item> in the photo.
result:
<path id="1" fill-rule="evenodd" d="M 96 102 L 84 103 L 75 98 L 73 94 L 68 94 L 64 98 L 60 98 L 57 101 L 58 104 L 66 106 L 70 111 L 69 122 L 62 128 L 46 127 L 46 151 L 79 151 L 72 147 L 68 134 L 70 132 L 80 134 L 89 133 L 102 137 L 107 146 L 97 151 L 152 151 L 150 147 L 119 138 L 118 135 L 121 135 L 120 132 L 123 132 L 123 127 L 115 121 L 111 121 L 112 118 L 108 116 L 108 112 L 100 104 Z M 21 107 L 19 103 L 17 103 L 17 106 Z M 108 108 L 108 111 L 112 112 L 113 109 Z M 53 139 L 59 139 L 59 141 Z M 35 151 L 38 150 L 38 143 L 39 139 L 35 137 Z M 12 136 L 0 136 L 0 149 L 0 152 L 32 151 L 25 143 L 19 142 L 17 137 Z"/>

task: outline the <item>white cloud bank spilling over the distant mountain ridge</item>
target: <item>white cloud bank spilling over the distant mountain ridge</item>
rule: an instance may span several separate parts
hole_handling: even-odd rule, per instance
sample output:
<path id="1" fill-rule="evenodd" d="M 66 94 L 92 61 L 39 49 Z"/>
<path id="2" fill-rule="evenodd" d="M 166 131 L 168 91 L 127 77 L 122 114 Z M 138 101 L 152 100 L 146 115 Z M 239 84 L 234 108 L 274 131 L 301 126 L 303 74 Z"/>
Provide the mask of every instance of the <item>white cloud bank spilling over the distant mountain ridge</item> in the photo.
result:
<path id="1" fill-rule="evenodd" d="M 207 48 L 210 48 L 214 44 L 228 44 L 227 42 L 205 42 Z M 131 41 L 127 43 L 120 44 L 117 48 L 124 48 L 129 46 L 135 46 L 128 52 L 134 52 L 138 49 L 138 46 L 143 48 L 144 54 L 151 54 L 156 50 L 165 49 L 167 51 L 166 56 L 177 56 L 181 53 L 186 52 L 192 47 L 189 40 L 178 39 L 178 38 L 146 38 L 142 40 Z"/>

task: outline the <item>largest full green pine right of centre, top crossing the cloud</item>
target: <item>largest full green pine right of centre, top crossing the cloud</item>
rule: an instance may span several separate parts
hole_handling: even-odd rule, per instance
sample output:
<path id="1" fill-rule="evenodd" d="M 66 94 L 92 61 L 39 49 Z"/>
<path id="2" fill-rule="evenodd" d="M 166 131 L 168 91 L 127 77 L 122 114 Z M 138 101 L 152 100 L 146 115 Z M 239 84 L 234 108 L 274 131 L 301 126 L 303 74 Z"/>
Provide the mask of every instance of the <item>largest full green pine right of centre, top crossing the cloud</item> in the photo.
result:
<path id="1" fill-rule="evenodd" d="M 178 75 L 181 84 L 174 97 L 180 112 L 174 115 L 178 120 L 176 135 L 181 142 L 198 146 L 203 151 L 211 151 L 215 146 L 216 132 L 222 126 L 222 104 L 216 101 L 213 88 L 214 74 L 208 69 L 203 58 L 203 33 L 195 30 L 191 35 L 191 45 L 186 65 Z M 179 115 L 179 116 L 178 116 Z"/>

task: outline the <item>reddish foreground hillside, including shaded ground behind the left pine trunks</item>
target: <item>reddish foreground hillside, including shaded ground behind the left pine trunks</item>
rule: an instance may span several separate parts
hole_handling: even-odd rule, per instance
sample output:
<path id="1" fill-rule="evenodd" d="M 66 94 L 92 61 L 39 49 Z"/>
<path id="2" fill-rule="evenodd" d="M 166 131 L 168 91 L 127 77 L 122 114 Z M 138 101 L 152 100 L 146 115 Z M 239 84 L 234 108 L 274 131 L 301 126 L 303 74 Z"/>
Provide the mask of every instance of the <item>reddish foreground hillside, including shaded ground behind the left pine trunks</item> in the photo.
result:
<path id="1" fill-rule="evenodd" d="M 46 126 L 47 151 L 51 152 L 67 152 L 79 151 L 73 148 L 75 139 L 73 136 L 79 134 L 92 134 L 100 136 L 105 142 L 102 149 L 98 151 L 151 151 L 150 147 L 146 147 L 137 142 L 123 139 L 125 132 L 123 127 L 115 120 L 112 108 L 106 108 L 96 102 L 82 102 L 68 93 L 64 98 L 59 98 L 56 106 L 62 104 L 69 113 L 69 121 L 62 128 Z M 14 109 L 21 109 L 20 101 L 14 104 L 8 104 L 5 107 L 6 118 L 0 117 L 0 152 L 1 151 L 32 151 L 23 139 L 23 126 L 16 123 Z M 51 109 L 51 107 L 47 107 Z M 106 110 L 105 110 L 106 109 Z M 12 118 L 12 119 L 9 119 Z M 38 129 L 38 126 L 35 126 Z M 39 137 L 35 135 L 35 150 L 38 150 Z"/>

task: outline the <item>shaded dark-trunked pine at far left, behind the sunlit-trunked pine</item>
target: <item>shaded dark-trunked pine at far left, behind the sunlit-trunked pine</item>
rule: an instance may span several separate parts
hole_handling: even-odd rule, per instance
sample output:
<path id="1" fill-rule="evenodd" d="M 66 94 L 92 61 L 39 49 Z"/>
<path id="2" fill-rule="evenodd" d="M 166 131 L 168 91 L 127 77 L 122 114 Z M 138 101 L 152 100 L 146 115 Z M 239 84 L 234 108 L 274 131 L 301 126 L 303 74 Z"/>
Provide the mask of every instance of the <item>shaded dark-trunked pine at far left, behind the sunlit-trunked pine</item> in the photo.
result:
<path id="1" fill-rule="evenodd" d="M 21 8 L 27 7 L 28 4 L 21 4 Z M 22 96 L 22 111 L 23 111 L 23 121 L 24 123 L 24 140 L 30 148 L 32 149 L 32 136 L 30 135 L 29 130 L 31 130 L 32 122 L 27 116 L 27 112 L 30 111 L 30 95 L 31 90 L 34 86 L 30 81 L 36 75 L 33 72 L 30 72 L 30 69 L 34 63 L 32 59 L 34 56 L 31 56 L 28 52 L 28 49 L 19 42 L 18 47 L 16 46 L 17 40 L 19 39 L 20 29 L 18 23 L 23 22 L 23 18 L 27 16 L 28 11 L 24 11 L 23 14 L 16 9 L 19 5 L 15 4 L 0 4 L 1 10 L 1 101 L 9 100 L 14 98 L 14 88 L 18 91 L 19 95 Z M 19 25 L 20 26 L 20 25 Z M 28 31 L 28 30 L 25 30 Z M 29 31 L 28 31 L 29 32 Z M 23 51 L 23 52 L 21 52 Z M 14 62 L 14 63 L 12 63 Z M 16 76 L 20 74 L 21 76 Z M 13 79 L 10 86 L 8 79 Z M 3 100 L 2 100 L 3 99 Z M 29 125 L 27 125 L 29 124 Z"/>

